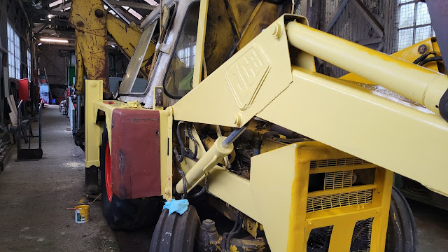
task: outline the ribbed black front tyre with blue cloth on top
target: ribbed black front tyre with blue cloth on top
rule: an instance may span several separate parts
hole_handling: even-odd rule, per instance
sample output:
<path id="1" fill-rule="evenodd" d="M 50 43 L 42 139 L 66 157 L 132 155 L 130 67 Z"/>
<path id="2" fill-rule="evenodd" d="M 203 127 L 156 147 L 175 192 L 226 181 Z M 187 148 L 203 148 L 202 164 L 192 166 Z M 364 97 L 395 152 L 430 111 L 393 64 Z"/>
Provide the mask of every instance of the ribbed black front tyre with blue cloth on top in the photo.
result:
<path id="1" fill-rule="evenodd" d="M 200 227 L 200 219 L 195 207 L 188 206 L 182 215 L 173 213 L 168 216 L 164 209 L 155 225 L 150 252 L 193 252 L 195 237 Z"/>

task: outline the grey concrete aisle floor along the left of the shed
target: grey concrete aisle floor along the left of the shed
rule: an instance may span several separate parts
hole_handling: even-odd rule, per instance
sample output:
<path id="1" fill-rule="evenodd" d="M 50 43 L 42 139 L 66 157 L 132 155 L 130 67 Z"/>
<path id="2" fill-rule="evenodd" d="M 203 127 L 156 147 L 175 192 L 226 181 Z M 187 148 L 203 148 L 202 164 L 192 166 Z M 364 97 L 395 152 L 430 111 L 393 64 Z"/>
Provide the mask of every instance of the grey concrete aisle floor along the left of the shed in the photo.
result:
<path id="1" fill-rule="evenodd" d="M 84 195 L 84 154 L 67 127 L 57 106 L 45 107 L 43 158 L 16 162 L 13 153 L 0 174 L 0 251 L 120 251 L 101 202 L 84 224 L 65 210 Z"/>

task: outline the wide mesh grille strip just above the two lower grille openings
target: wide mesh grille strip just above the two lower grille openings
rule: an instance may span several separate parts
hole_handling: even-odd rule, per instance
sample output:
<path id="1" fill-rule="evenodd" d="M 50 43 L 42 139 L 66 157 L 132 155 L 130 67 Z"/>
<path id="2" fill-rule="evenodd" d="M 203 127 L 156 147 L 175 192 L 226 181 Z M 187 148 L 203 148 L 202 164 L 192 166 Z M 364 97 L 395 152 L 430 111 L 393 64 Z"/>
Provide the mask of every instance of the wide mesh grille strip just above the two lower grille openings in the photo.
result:
<path id="1" fill-rule="evenodd" d="M 354 204 L 372 203 L 373 189 L 359 190 L 350 193 L 336 193 L 332 195 L 322 195 L 308 197 L 307 213 L 332 209 L 335 207 L 345 207 Z"/>

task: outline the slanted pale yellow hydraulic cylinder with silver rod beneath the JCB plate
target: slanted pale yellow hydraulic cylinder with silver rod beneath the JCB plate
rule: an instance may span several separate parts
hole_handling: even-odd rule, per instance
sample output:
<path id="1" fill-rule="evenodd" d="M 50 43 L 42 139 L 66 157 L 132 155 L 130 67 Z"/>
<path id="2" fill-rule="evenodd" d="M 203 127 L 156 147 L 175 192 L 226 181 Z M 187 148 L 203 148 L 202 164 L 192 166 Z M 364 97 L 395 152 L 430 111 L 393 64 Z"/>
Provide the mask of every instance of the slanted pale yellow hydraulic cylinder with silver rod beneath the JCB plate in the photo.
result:
<path id="1" fill-rule="evenodd" d="M 239 135 L 235 135 L 230 138 L 234 139 Z M 230 137 L 230 136 L 229 136 Z M 188 190 L 193 189 L 197 186 L 202 179 L 205 178 L 206 174 L 209 173 L 211 168 L 218 164 L 219 161 L 223 160 L 226 155 L 229 155 L 233 151 L 233 144 L 231 141 L 225 142 L 229 137 L 219 137 L 216 139 L 215 144 L 204 154 L 204 156 L 197 161 L 196 165 L 193 166 L 190 171 L 186 174 L 186 180 L 188 185 Z M 227 146 L 227 147 L 224 147 Z M 191 185 L 191 186 L 190 186 Z M 183 181 L 179 181 L 176 185 L 176 191 L 178 193 L 183 193 Z"/>

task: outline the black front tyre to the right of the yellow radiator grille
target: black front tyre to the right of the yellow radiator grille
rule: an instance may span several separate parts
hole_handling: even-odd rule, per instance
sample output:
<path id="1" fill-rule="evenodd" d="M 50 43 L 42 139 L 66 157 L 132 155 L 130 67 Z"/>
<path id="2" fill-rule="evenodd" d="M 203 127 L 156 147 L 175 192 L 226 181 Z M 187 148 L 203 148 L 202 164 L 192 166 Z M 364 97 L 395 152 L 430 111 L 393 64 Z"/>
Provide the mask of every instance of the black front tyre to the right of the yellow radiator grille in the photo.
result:
<path id="1" fill-rule="evenodd" d="M 417 228 L 405 196 L 393 187 L 386 235 L 386 252 L 416 252 Z"/>

